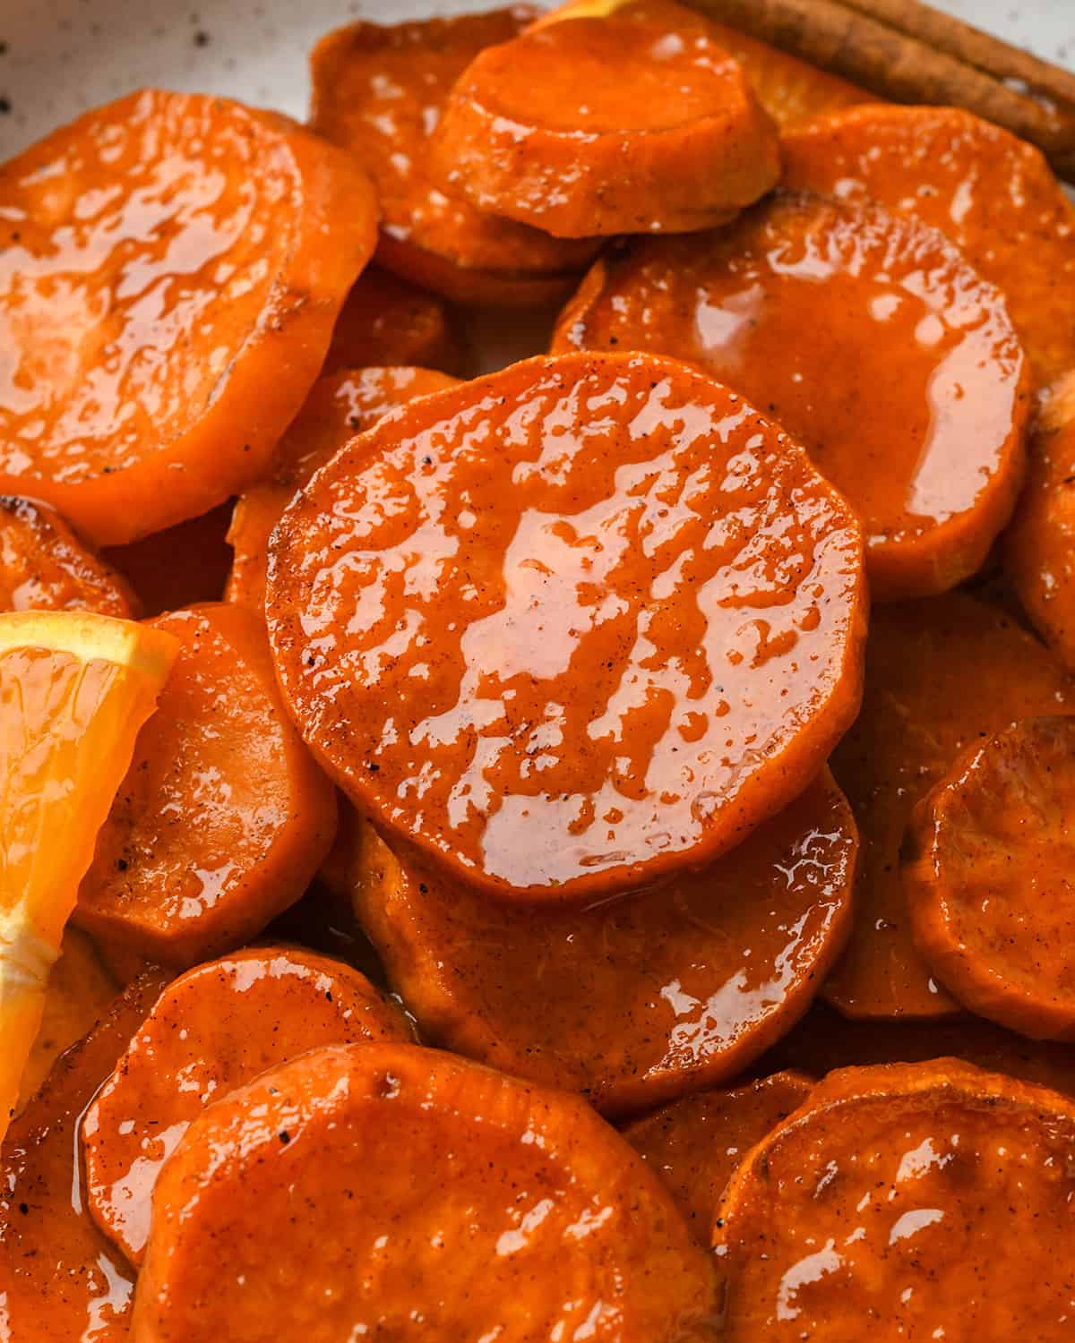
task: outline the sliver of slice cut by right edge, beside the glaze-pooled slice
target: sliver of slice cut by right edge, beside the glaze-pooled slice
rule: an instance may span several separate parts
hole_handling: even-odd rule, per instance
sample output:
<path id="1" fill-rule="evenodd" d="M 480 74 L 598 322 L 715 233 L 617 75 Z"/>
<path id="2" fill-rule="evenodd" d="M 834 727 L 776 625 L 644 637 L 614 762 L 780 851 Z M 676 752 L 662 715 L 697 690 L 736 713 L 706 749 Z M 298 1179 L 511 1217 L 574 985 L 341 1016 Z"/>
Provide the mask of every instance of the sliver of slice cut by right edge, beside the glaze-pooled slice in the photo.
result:
<path id="1" fill-rule="evenodd" d="M 1035 629 L 1075 672 L 1075 377 L 1049 399 L 1031 438 L 1004 568 Z"/>

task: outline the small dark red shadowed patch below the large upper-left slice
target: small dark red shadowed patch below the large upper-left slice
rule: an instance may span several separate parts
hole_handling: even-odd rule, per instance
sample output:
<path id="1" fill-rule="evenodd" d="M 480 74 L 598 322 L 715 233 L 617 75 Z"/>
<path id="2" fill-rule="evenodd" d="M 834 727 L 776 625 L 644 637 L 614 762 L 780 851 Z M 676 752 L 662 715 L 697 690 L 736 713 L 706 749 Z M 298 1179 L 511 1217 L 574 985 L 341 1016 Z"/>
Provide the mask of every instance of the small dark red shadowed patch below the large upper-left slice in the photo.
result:
<path id="1" fill-rule="evenodd" d="M 226 500 L 200 517 L 103 552 L 134 588 L 146 616 L 220 600 L 231 569 L 227 529 L 232 508 Z"/>

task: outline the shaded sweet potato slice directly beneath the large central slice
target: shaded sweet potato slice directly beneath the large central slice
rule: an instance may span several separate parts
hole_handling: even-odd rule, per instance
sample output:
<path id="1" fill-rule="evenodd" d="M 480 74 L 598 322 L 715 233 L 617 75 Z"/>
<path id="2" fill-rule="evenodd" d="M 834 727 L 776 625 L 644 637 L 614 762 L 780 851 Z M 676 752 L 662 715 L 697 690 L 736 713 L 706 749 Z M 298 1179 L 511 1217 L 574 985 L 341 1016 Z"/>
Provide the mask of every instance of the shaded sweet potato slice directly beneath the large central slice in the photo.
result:
<path id="1" fill-rule="evenodd" d="M 851 931 L 857 839 L 825 772 L 723 858 L 593 909 L 519 909 L 400 864 L 367 825 L 355 911 L 423 1038 L 622 1115 L 727 1081 Z"/>

